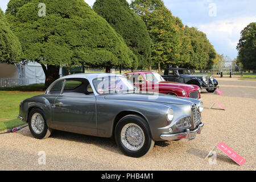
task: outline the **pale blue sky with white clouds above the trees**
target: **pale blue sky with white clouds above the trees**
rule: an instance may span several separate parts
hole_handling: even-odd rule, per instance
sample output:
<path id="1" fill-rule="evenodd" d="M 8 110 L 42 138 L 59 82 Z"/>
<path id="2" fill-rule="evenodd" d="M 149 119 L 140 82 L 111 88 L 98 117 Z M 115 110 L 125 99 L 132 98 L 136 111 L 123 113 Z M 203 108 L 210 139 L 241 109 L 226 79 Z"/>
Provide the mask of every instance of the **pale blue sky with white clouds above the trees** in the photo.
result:
<path id="1" fill-rule="evenodd" d="M 8 2 L 0 0 L 3 11 Z M 85 2 L 92 6 L 95 0 Z M 256 22 L 255 0 L 164 0 L 164 4 L 184 25 L 197 27 L 207 34 L 217 53 L 231 59 L 237 57 L 240 32 L 247 24 Z"/>

